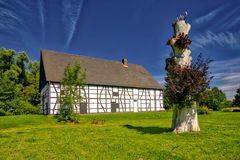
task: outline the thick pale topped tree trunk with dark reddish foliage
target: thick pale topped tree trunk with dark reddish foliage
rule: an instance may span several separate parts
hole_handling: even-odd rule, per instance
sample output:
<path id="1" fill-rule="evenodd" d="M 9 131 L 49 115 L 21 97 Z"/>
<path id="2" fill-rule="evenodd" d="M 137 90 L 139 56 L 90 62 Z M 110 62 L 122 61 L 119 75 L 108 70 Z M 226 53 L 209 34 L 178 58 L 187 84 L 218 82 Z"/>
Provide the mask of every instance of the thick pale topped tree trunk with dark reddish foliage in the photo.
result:
<path id="1" fill-rule="evenodd" d="M 192 64 L 186 15 L 173 23 L 175 35 L 168 41 L 173 49 L 166 60 L 166 96 L 173 105 L 172 129 L 176 133 L 200 131 L 197 117 L 199 95 L 209 87 L 209 63 L 200 55 Z"/>

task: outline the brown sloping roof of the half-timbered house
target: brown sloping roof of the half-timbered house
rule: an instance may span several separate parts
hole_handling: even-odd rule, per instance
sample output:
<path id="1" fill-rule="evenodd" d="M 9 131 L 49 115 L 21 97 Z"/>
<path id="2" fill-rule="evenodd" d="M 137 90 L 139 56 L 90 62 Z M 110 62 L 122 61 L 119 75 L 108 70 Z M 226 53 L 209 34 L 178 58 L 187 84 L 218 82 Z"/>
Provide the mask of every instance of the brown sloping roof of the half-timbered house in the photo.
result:
<path id="1" fill-rule="evenodd" d="M 46 81 L 59 82 L 63 78 L 64 67 L 79 61 L 86 69 L 86 83 L 134 88 L 162 89 L 159 83 L 142 66 L 128 64 L 123 67 L 119 61 L 90 58 L 56 51 L 41 51 L 42 68 Z"/>

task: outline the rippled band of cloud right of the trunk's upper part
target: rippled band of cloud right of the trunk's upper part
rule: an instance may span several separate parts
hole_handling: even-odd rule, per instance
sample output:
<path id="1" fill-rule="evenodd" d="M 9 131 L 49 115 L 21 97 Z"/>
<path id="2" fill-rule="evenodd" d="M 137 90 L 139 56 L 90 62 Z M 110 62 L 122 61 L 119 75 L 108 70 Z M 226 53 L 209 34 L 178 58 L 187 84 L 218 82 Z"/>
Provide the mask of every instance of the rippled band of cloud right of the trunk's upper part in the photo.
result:
<path id="1" fill-rule="evenodd" d="M 193 37 L 192 49 L 203 48 L 207 46 L 230 47 L 231 49 L 240 49 L 240 31 L 238 32 L 219 32 L 206 31 Z"/>

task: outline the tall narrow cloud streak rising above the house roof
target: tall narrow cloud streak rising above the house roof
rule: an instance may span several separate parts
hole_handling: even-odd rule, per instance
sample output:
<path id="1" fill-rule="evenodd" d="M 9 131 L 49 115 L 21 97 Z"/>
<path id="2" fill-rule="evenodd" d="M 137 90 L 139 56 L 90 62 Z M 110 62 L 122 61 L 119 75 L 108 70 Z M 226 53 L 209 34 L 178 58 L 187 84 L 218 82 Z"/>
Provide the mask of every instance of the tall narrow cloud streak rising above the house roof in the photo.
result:
<path id="1" fill-rule="evenodd" d="M 65 43 L 65 48 L 69 47 L 69 44 L 72 41 L 73 35 L 75 33 L 78 20 L 81 15 L 82 7 L 84 0 L 65 0 L 62 3 L 63 6 L 63 24 L 66 27 L 67 31 L 67 40 Z"/>

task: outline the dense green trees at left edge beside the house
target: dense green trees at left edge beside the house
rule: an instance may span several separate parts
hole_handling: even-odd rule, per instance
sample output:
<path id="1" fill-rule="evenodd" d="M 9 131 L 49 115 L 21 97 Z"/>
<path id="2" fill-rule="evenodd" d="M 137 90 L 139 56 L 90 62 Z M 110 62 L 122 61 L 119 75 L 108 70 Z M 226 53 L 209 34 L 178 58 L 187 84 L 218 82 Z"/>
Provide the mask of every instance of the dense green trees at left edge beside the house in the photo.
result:
<path id="1" fill-rule="evenodd" d="M 25 52 L 0 51 L 0 115 L 39 113 L 38 61 Z"/>

